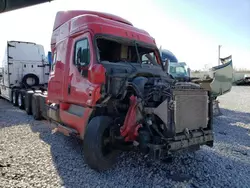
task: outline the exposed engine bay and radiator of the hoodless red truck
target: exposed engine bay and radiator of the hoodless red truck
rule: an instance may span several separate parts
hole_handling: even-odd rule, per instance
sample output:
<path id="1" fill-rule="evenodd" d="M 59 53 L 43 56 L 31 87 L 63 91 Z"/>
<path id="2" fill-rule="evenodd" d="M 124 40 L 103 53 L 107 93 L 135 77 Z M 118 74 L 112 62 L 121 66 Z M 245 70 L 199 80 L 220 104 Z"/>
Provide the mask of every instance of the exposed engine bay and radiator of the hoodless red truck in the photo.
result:
<path id="1" fill-rule="evenodd" d="M 122 70 L 121 66 L 118 70 Z M 152 69 L 142 71 L 141 67 L 127 74 L 126 71 L 107 71 L 108 84 L 104 93 L 115 103 L 116 109 L 110 113 L 122 117 L 117 126 L 118 136 L 122 136 L 125 143 L 138 145 L 146 153 L 169 152 L 201 143 L 211 145 L 209 91 L 198 84 L 173 80 L 162 70 L 156 75 L 150 71 Z M 176 145 L 190 139 L 194 139 L 193 143 Z"/>

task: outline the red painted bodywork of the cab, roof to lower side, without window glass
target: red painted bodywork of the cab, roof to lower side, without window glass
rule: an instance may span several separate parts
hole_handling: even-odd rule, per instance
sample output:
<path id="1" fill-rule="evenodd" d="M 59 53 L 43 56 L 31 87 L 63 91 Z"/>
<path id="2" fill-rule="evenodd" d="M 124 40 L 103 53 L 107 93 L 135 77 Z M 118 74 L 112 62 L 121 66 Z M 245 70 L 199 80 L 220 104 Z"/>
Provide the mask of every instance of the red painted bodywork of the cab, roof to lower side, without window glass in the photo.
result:
<path id="1" fill-rule="evenodd" d="M 48 100 L 60 104 L 62 122 L 76 129 L 82 138 L 92 113 L 89 106 L 94 106 L 100 99 L 101 84 L 105 82 L 105 68 L 96 60 L 93 44 L 95 34 L 109 34 L 156 47 L 154 38 L 146 31 L 133 27 L 130 22 L 118 16 L 93 11 L 57 13 L 51 37 L 51 51 L 56 54 L 56 63 L 54 62 L 54 70 L 50 73 Z M 88 38 L 90 48 L 90 64 L 86 67 L 86 77 L 73 64 L 75 42 L 82 38 Z M 84 107 L 83 116 L 67 112 L 71 104 Z"/>

